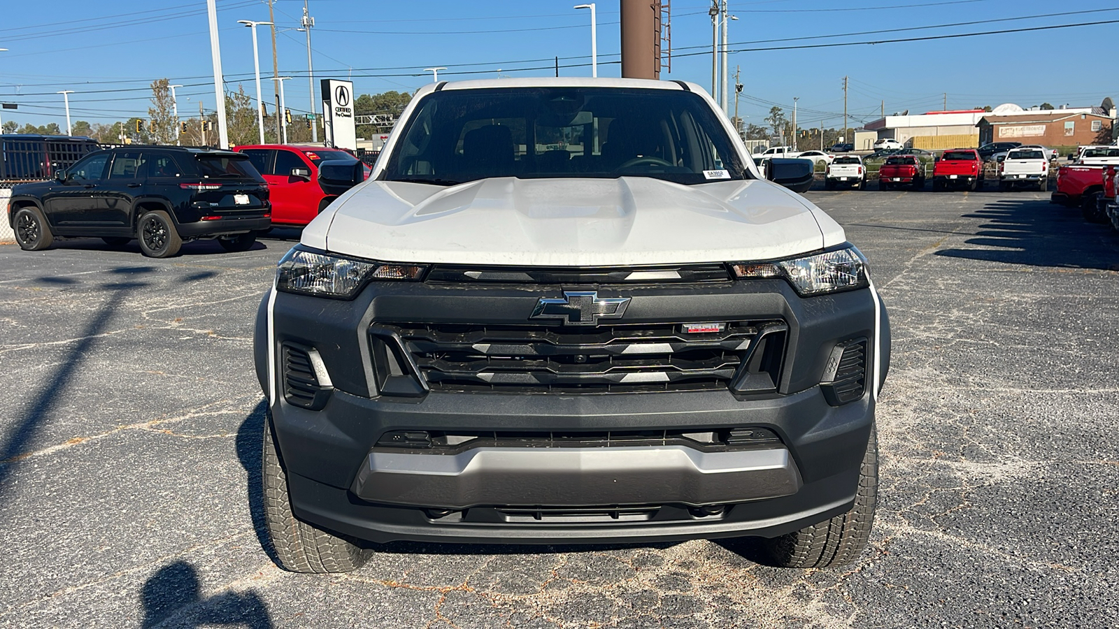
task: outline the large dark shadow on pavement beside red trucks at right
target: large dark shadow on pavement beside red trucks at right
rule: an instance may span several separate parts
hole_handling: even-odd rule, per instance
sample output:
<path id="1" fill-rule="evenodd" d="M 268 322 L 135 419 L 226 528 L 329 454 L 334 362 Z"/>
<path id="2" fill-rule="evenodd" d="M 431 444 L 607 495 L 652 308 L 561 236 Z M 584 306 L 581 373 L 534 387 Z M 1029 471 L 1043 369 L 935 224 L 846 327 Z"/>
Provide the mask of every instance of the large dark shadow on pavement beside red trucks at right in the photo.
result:
<path id="1" fill-rule="evenodd" d="M 1002 198 L 965 214 L 981 218 L 976 248 L 946 248 L 935 255 L 984 262 L 1065 269 L 1119 270 L 1110 231 L 1084 222 L 1079 210 L 1037 199 Z"/>

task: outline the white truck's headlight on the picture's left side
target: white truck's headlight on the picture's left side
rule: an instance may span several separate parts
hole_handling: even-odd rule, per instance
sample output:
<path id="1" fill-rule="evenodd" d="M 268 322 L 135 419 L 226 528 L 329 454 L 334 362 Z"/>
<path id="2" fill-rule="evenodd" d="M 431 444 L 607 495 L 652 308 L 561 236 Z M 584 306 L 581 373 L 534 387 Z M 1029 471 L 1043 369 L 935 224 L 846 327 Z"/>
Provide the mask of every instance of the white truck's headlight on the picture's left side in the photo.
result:
<path id="1" fill-rule="evenodd" d="M 352 299 L 373 280 L 417 280 L 423 266 L 386 264 L 293 248 L 280 261 L 276 288 L 285 292 Z"/>

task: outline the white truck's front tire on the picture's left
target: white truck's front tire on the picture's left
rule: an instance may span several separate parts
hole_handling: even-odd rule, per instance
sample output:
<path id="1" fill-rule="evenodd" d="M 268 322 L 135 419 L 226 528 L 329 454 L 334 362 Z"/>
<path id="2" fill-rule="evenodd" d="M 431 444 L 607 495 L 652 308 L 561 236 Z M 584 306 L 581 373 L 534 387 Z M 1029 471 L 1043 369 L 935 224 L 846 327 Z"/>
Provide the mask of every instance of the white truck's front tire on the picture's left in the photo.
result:
<path id="1" fill-rule="evenodd" d="M 288 471 L 272 434 L 272 411 L 264 421 L 264 456 L 261 458 L 264 485 L 264 523 L 272 539 L 280 567 L 291 572 L 350 572 L 369 560 L 373 551 L 316 528 L 300 520 L 291 510 Z"/>

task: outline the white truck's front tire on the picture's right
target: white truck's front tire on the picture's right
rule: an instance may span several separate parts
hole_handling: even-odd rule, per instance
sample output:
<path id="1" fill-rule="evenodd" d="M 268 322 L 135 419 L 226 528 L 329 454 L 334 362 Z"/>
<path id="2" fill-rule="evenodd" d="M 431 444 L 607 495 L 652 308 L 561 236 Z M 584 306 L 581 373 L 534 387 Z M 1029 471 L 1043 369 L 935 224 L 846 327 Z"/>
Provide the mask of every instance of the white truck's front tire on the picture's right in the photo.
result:
<path id="1" fill-rule="evenodd" d="M 762 543 L 762 551 L 780 567 L 827 567 L 850 563 L 866 550 L 878 501 L 878 438 L 871 428 L 858 475 L 855 506 L 845 514 Z"/>

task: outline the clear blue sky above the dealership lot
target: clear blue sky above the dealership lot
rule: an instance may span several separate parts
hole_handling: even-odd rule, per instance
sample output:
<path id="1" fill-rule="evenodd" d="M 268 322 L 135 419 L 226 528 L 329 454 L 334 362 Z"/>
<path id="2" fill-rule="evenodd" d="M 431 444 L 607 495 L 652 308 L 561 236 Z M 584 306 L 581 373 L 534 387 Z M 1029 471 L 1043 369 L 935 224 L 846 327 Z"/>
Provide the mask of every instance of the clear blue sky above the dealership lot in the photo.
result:
<path id="1" fill-rule="evenodd" d="M 673 0 L 671 73 L 661 78 L 711 84 L 711 0 Z M 413 91 L 430 81 L 423 68 L 448 66 L 445 78 L 553 75 L 561 57 L 563 75 L 590 75 L 590 16 L 571 0 L 488 0 L 487 2 L 374 2 L 310 0 L 316 85 L 318 78 L 351 76 L 358 93 Z M 74 90 L 74 120 L 109 122 L 147 115 L 148 84 L 167 77 L 178 90 L 180 114 L 197 113 L 201 100 L 215 105 L 205 0 L 142 2 L 53 0 L 6 2 L 0 25 L 0 101 L 3 120 L 65 128 L 62 96 Z M 731 49 L 767 48 L 931 37 L 961 32 L 1119 20 L 1119 1 L 1084 0 L 1066 15 L 1060 3 L 1040 0 L 731 0 L 739 20 L 730 26 Z M 307 48 L 294 29 L 302 0 L 276 0 L 275 21 L 281 75 L 293 111 L 309 106 Z M 921 28 L 958 22 L 1031 19 Z M 264 0 L 219 0 L 222 60 L 226 81 L 254 94 L 250 30 L 238 19 L 267 20 Z M 599 74 L 619 76 L 618 3 L 598 2 Z M 915 29 L 854 35 L 863 31 Z M 850 77 L 848 111 L 869 121 L 886 113 L 943 107 L 1099 104 L 1115 95 L 1113 72 L 1103 54 L 1119 24 L 982 37 L 849 47 L 752 50 L 730 56 L 732 72 L 742 67 L 744 97 L 740 111 L 762 123 L 771 104 L 791 110 L 799 96 L 801 126 L 825 120 L 838 126 L 843 113 L 843 77 Z M 262 75 L 272 71 L 267 27 L 261 27 Z M 824 36 L 838 36 L 826 37 Z M 789 40 L 790 38 L 802 38 Z M 778 41 L 772 41 L 778 40 Z M 763 43 L 764 41 L 764 43 Z M 1094 43 L 1094 44 L 1093 44 Z M 706 53 L 705 53 L 706 51 Z M 687 56 L 692 54 L 692 56 Z M 534 60 L 535 59 L 535 60 Z M 544 59 L 544 60 L 542 60 Z M 477 65 L 464 65 L 477 64 Z M 536 68 L 536 69 L 524 69 Z M 461 74 L 454 74 L 461 73 Z M 373 76 L 377 75 L 377 76 Z M 733 79 L 732 79 L 733 84 Z M 263 83 L 272 101 L 271 81 Z"/>

